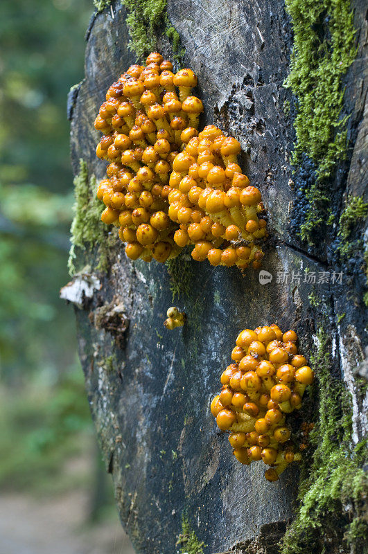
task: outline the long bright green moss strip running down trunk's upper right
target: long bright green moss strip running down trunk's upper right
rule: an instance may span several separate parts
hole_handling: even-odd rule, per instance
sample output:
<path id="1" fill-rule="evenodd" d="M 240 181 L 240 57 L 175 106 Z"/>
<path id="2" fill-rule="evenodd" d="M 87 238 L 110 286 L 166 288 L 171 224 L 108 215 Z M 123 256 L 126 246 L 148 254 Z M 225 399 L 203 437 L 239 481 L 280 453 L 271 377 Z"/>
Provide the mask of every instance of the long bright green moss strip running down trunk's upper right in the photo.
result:
<path id="1" fill-rule="evenodd" d="M 356 56 L 355 29 L 349 0 L 286 0 L 286 10 L 292 19 L 294 49 L 284 84 L 297 96 L 292 163 L 299 166 L 304 154 L 316 168 L 313 183 L 303 191 L 308 206 L 300 235 L 313 244 L 316 226 L 327 219 L 328 178 L 347 155 L 348 116 L 341 116 L 341 82 Z"/>

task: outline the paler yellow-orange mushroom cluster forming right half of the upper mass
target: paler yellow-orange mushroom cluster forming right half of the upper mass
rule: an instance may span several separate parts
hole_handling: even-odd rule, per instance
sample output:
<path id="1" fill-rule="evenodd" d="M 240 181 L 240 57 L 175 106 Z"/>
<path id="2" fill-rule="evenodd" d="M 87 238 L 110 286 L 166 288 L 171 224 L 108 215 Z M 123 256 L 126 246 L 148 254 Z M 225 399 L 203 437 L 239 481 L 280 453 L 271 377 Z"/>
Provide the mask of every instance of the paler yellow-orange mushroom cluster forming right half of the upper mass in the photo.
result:
<path id="1" fill-rule="evenodd" d="M 258 269 L 266 221 L 259 189 L 238 166 L 240 150 L 215 125 L 193 136 L 173 161 L 168 215 L 180 226 L 177 246 L 195 244 L 194 260 Z"/>

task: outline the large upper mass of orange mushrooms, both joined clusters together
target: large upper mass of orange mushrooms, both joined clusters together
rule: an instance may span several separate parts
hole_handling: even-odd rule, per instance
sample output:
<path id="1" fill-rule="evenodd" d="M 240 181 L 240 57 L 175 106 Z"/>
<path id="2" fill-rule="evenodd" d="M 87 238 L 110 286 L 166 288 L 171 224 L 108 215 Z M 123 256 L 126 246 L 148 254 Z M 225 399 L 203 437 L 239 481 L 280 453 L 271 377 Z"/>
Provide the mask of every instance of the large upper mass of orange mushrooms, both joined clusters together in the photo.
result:
<path id="1" fill-rule="evenodd" d="M 240 143 L 215 125 L 198 132 L 202 101 L 191 69 L 173 73 L 157 52 L 109 87 L 95 127 L 108 162 L 97 197 L 132 260 L 166 262 L 193 244 L 194 260 L 261 265 L 267 236 L 261 193 L 237 163 Z"/>

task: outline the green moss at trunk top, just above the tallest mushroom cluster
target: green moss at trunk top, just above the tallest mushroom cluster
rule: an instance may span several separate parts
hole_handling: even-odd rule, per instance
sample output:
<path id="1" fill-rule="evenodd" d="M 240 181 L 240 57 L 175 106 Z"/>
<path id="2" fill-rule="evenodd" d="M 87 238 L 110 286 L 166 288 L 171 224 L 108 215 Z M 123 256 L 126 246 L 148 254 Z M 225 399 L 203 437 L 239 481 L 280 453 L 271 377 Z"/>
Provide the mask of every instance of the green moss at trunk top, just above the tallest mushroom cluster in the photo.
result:
<path id="1" fill-rule="evenodd" d="M 170 24 L 167 0 L 122 0 L 128 11 L 126 19 L 130 34 L 130 49 L 139 60 L 157 49 L 157 35 L 163 33 L 173 45 L 174 57 L 180 60 L 184 49 L 177 30 Z"/>

